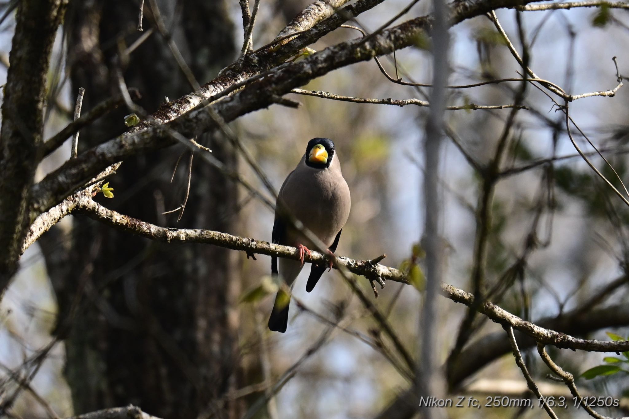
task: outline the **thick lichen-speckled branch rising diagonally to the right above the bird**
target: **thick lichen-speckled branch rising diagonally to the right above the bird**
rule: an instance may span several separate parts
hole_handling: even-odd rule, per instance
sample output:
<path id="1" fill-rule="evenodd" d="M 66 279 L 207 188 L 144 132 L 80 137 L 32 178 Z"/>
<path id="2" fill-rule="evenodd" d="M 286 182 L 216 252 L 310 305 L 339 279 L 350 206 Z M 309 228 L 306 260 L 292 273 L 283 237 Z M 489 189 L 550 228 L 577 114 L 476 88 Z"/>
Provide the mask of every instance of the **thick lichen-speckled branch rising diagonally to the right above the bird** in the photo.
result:
<path id="1" fill-rule="evenodd" d="M 521 2 L 516 0 L 458 1 L 450 4 L 448 14 L 450 22 L 454 24 L 494 8 L 515 7 L 519 4 Z M 42 182 L 31 188 L 34 215 L 65 199 L 86 178 L 94 176 L 104 167 L 143 151 L 169 146 L 173 143 L 169 129 L 188 138 L 216 129 L 216 121 L 210 112 L 203 108 L 187 112 L 184 116 L 179 117 L 182 111 L 197 106 L 203 99 L 209 102 L 216 101 L 216 99 L 235 92 L 246 85 L 245 89 L 212 105 L 214 112 L 221 116 L 224 121 L 233 121 L 243 114 L 269 106 L 274 102 L 274 97 L 284 95 L 291 89 L 307 84 L 310 80 L 321 77 L 336 68 L 370 60 L 376 55 L 384 55 L 400 48 L 415 45 L 418 36 L 430 33 L 431 22 L 431 15 L 411 19 L 383 31 L 369 40 L 357 39 L 343 42 L 326 48 L 305 60 L 286 63 L 270 72 L 255 75 L 252 79 L 247 77 L 250 74 L 248 70 L 242 70 L 226 79 L 225 74 L 232 73 L 232 70 L 226 70 L 223 72 L 223 76 L 204 86 L 199 92 L 174 101 L 172 105 L 169 104 L 167 109 L 153 114 L 151 121 L 158 124 L 157 126 L 147 128 L 147 125 L 144 124 L 140 128 L 143 131 L 132 131 L 100 144 L 50 173 Z M 286 47 L 289 48 L 289 45 L 292 45 L 302 36 L 306 36 L 306 34 L 287 43 Z M 243 81 L 245 79 L 248 79 L 246 83 Z M 172 119 L 175 120 L 172 121 Z M 172 122 L 169 122 L 168 128 L 164 129 L 159 124 L 166 121 Z"/>

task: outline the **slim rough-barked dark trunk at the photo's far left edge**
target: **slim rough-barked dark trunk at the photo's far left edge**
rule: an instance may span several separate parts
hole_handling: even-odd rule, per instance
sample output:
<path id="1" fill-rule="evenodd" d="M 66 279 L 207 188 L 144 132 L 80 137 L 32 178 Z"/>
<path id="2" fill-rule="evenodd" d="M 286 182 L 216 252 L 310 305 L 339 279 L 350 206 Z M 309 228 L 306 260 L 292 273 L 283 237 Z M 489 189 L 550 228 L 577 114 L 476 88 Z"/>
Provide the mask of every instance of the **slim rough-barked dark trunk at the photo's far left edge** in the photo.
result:
<path id="1" fill-rule="evenodd" d="M 18 3 L 0 131 L 0 295 L 19 258 L 30 224 L 28 191 L 42 143 L 50 53 L 67 0 Z"/>

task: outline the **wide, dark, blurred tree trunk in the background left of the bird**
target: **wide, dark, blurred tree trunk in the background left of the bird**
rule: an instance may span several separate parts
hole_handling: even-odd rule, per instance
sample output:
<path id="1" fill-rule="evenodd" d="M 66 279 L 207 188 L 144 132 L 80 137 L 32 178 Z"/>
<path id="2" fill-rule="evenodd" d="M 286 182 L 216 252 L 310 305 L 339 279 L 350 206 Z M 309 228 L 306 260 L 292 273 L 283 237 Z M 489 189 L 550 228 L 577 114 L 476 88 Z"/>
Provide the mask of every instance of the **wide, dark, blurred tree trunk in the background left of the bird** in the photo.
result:
<path id="1" fill-rule="evenodd" d="M 154 26 L 150 1 L 144 28 Z M 225 1 L 158 2 L 173 39 L 203 83 L 235 55 L 233 24 Z M 175 10 L 177 3 L 177 10 Z M 117 69 L 142 94 L 141 106 L 157 109 L 164 97 L 189 92 L 166 41 L 155 31 L 119 58 L 138 36 L 135 2 L 74 1 L 68 14 L 68 68 L 72 92 L 86 89 L 83 107 L 120 91 Z M 128 110 L 112 112 L 81 131 L 81 148 L 125 130 Z M 233 148 L 210 141 L 216 158 L 235 168 Z M 203 142 L 203 139 L 198 139 Z M 81 147 L 83 146 L 83 147 Z M 114 199 L 105 205 L 155 224 L 175 226 L 179 212 L 162 215 L 184 200 L 189 153 L 177 148 L 125 161 L 109 179 Z M 101 202 L 102 197 L 98 198 Z M 177 227 L 237 233 L 237 188 L 220 172 L 194 161 L 186 211 Z M 42 237 L 48 271 L 60 307 L 57 333 L 65 339 L 65 375 L 75 413 L 133 403 L 152 415 L 192 418 L 203 412 L 237 415 L 216 398 L 235 386 L 239 293 L 238 254 L 222 248 L 151 242 L 74 217 L 70 245 L 58 229 Z M 57 246 L 55 246 L 57 244 Z M 71 268 L 68 268 L 71 266 Z M 75 295 L 79 303 L 75 305 Z M 75 309 L 75 307 L 78 307 Z M 65 320 L 69 319 L 69 320 Z"/>

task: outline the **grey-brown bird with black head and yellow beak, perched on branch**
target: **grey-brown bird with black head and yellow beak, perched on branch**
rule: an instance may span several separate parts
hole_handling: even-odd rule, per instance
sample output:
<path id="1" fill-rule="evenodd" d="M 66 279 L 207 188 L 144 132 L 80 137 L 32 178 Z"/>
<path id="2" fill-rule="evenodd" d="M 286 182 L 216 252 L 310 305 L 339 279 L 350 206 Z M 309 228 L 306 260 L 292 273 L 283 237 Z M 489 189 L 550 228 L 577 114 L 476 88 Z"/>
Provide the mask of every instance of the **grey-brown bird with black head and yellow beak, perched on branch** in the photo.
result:
<path id="1" fill-rule="evenodd" d="M 329 138 L 311 139 L 301 161 L 286 177 L 279 190 L 272 234 L 272 242 L 298 248 L 301 259 L 294 261 L 281 258 L 278 269 L 277 257 L 272 256 L 272 274 L 279 273 L 287 285 L 292 287 L 304 266 L 304 255 L 310 254 L 308 246 L 313 247 L 312 242 L 286 221 L 286 212 L 300 220 L 306 229 L 325 244 L 330 253 L 334 253 L 341 230 L 350 214 L 350 204 L 350 189 L 343 179 L 334 143 Z M 315 288 L 326 268 L 328 266 L 312 265 L 306 291 L 310 292 Z M 278 291 L 269 318 L 270 330 L 286 332 L 288 303 L 286 294 L 282 290 Z"/>

